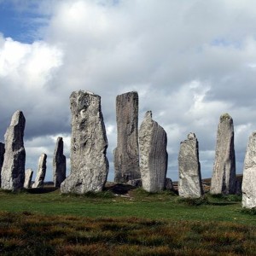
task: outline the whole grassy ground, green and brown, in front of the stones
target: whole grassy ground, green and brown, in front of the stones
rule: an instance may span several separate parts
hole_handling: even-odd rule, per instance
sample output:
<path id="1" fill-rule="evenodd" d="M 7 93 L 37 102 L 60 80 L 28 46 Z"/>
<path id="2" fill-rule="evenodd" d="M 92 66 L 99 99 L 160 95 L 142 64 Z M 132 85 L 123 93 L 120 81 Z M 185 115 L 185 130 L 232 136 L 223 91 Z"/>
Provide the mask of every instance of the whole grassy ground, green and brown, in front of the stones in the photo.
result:
<path id="1" fill-rule="evenodd" d="M 0 254 L 256 255 L 256 215 L 241 196 L 118 192 L 0 191 Z"/>

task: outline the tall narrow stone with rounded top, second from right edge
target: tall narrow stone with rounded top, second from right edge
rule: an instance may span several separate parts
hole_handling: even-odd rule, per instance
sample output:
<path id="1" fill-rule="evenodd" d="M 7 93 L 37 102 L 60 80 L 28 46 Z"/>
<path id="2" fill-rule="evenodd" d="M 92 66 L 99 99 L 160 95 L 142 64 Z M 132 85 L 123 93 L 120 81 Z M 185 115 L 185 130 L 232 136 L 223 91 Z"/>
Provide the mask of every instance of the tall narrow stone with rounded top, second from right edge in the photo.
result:
<path id="1" fill-rule="evenodd" d="M 236 157 L 233 119 L 228 113 L 220 116 L 211 194 L 236 194 Z"/>

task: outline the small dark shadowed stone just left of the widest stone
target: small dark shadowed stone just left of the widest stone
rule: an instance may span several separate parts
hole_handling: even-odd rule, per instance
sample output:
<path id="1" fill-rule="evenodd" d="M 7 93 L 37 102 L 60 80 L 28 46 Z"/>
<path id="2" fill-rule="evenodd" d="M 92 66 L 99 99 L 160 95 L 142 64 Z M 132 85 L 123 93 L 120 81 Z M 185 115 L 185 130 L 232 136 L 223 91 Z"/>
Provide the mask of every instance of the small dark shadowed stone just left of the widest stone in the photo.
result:
<path id="1" fill-rule="evenodd" d="M 66 178 L 66 156 L 63 154 L 63 139 L 57 138 L 55 153 L 53 156 L 53 181 L 56 188 L 61 187 L 61 183 Z"/>

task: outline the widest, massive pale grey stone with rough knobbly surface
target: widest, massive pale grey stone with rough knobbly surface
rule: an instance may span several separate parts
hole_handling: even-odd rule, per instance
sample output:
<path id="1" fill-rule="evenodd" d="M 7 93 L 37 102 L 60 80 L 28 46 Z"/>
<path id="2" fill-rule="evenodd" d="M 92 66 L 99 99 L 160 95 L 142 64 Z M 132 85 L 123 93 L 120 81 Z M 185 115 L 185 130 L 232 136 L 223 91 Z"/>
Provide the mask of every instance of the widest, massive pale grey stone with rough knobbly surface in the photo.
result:
<path id="1" fill-rule="evenodd" d="M 70 96 L 72 112 L 71 173 L 61 183 L 61 193 L 101 191 L 108 177 L 108 140 L 101 97 L 88 91 Z"/>

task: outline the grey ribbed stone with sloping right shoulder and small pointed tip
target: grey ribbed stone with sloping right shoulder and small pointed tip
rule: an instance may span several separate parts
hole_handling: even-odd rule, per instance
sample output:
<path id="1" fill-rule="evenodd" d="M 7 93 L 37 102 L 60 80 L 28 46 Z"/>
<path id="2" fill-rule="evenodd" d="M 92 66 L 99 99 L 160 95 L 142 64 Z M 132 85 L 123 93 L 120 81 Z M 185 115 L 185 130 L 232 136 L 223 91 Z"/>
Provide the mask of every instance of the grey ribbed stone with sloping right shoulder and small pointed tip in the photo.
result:
<path id="1" fill-rule="evenodd" d="M 140 170 L 143 189 L 148 192 L 165 189 L 168 160 L 166 145 L 166 131 L 152 119 L 152 113 L 148 111 L 139 131 Z"/>

